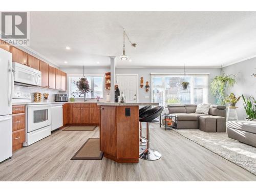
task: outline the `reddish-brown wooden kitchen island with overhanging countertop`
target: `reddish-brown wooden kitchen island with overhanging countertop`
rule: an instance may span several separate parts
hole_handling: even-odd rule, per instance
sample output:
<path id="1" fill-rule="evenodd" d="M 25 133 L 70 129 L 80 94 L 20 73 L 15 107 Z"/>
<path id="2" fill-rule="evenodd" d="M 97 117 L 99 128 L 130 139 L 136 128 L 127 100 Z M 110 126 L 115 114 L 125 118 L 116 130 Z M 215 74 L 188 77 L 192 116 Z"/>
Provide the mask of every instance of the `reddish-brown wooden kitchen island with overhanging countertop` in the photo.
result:
<path id="1" fill-rule="evenodd" d="M 118 163 L 139 162 L 139 105 L 159 103 L 97 103 L 100 106 L 100 151 Z"/>

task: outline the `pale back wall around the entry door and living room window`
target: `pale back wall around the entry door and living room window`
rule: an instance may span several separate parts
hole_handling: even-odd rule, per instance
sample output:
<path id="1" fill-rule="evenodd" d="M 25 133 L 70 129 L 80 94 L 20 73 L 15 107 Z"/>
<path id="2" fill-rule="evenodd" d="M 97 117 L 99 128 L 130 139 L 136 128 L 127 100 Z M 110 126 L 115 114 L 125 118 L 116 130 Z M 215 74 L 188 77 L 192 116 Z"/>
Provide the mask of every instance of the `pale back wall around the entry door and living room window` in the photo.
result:
<path id="1" fill-rule="evenodd" d="M 140 86 L 140 77 L 144 79 L 145 82 L 151 82 L 150 73 L 184 73 L 183 68 L 117 68 L 116 74 L 138 74 L 138 86 Z M 209 73 L 209 82 L 217 75 L 220 75 L 220 69 L 211 68 L 187 68 L 186 73 Z M 151 86 L 151 84 L 150 84 Z M 151 89 L 151 88 L 150 88 Z M 143 88 L 139 87 L 139 100 L 138 102 L 151 102 L 151 90 L 146 93 L 145 86 Z M 145 98 L 149 96 L 149 98 Z M 216 99 L 209 93 L 209 103 L 216 103 Z"/>

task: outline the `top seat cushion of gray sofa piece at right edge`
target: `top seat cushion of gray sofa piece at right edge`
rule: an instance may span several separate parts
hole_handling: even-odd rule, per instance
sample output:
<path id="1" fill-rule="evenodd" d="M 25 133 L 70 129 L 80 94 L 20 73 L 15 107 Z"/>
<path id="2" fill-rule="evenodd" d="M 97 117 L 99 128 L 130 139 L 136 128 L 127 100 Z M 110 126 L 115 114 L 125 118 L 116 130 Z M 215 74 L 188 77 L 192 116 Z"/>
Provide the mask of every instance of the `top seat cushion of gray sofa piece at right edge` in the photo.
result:
<path id="1" fill-rule="evenodd" d="M 227 121 L 227 127 L 256 134 L 255 121 Z"/>

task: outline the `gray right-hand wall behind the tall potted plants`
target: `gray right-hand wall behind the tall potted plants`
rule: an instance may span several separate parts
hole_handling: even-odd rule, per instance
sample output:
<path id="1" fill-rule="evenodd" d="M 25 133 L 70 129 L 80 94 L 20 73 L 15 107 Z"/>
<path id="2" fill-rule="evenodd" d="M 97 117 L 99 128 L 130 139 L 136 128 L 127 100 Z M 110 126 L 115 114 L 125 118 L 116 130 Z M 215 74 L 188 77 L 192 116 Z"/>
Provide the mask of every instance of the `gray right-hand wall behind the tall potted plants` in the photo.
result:
<path id="1" fill-rule="evenodd" d="M 233 74 L 236 76 L 237 84 L 227 91 L 227 94 L 234 93 L 234 95 L 244 95 L 245 97 L 253 96 L 256 98 L 256 78 L 252 77 L 252 73 L 256 73 L 256 58 L 248 59 L 234 65 L 225 67 L 224 72 L 226 75 Z M 243 108 L 242 98 L 237 103 L 238 118 L 242 120 L 246 117 Z"/>

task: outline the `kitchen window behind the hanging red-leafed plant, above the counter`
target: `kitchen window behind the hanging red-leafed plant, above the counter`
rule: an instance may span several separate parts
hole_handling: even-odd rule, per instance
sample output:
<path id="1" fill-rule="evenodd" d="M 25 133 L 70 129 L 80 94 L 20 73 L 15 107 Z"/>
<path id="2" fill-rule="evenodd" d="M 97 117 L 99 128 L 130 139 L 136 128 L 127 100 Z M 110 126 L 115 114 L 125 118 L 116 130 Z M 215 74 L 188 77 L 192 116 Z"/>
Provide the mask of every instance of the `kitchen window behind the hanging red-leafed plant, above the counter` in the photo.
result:
<path id="1" fill-rule="evenodd" d="M 92 89 L 92 93 L 87 93 L 86 98 L 96 98 L 99 96 L 100 98 L 103 98 L 103 75 L 85 75 L 86 78 L 89 81 L 90 88 Z M 78 81 L 82 75 L 79 76 L 70 76 L 69 77 L 69 96 L 71 97 L 74 95 L 75 98 L 79 98 L 80 92 L 77 90 L 77 86 L 74 83 L 74 81 Z M 81 95 L 83 98 L 83 95 Z"/>

